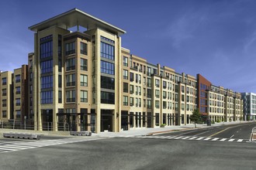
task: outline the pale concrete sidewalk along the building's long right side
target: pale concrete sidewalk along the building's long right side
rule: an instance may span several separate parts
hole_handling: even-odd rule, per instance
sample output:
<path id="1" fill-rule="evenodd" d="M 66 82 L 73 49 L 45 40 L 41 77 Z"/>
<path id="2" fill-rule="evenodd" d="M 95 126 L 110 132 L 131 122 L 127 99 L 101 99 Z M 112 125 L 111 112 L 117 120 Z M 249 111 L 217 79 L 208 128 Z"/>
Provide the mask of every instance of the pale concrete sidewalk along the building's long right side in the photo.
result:
<path id="1" fill-rule="evenodd" d="M 215 123 L 211 126 L 207 124 L 197 124 L 196 128 L 211 128 L 216 126 L 223 126 L 228 124 L 244 124 L 251 121 L 232 121 L 232 122 L 221 122 Z M 195 124 L 181 125 L 181 126 L 166 126 L 164 128 L 134 128 L 129 131 L 120 131 L 120 132 L 100 132 L 99 134 L 92 133 L 92 136 L 97 137 L 117 137 L 117 136 L 145 136 L 145 135 L 154 135 L 161 133 L 168 133 L 171 131 L 186 131 L 195 129 Z"/>

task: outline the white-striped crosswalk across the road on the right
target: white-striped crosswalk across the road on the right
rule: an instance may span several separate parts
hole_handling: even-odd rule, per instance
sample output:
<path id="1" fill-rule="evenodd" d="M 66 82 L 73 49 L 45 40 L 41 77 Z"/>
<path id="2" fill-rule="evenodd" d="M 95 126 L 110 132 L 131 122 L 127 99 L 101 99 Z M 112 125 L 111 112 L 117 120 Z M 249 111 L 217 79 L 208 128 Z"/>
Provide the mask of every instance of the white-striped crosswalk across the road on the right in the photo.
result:
<path id="1" fill-rule="evenodd" d="M 249 142 L 247 139 L 235 139 L 235 138 L 209 138 L 209 137 L 199 137 L 199 136 L 161 136 L 161 135 L 150 135 L 150 136 L 140 136 L 140 135 L 130 135 L 130 136 L 118 136 L 116 138 L 148 138 L 148 139 L 170 139 L 170 140 L 188 140 L 188 141 L 229 141 L 229 142 Z"/>

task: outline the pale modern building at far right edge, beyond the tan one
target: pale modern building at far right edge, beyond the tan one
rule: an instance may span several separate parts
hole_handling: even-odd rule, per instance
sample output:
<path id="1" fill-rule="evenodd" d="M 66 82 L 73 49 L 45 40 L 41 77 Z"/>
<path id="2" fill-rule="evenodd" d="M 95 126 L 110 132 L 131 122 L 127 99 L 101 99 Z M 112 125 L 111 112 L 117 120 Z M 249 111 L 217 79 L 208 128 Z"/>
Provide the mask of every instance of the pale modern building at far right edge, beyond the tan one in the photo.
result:
<path id="1" fill-rule="evenodd" d="M 244 100 L 244 120 L 256 119 L 256 93 L 241 93 Z"/>

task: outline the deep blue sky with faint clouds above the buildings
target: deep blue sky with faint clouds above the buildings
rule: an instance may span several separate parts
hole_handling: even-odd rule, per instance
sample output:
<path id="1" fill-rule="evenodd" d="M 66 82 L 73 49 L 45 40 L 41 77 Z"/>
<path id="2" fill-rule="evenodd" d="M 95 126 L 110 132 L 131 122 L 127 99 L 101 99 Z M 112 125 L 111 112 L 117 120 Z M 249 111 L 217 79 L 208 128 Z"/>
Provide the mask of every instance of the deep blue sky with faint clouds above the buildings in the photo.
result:
<path id="1" fill-rule="evenodd" d="M 216 86 L 256 93 L 254 0 L 9 0 L 0 2 L 0 70 L 27 63 L 28 27 L 79 8 L 126 30 L 122 46 L 178 73 L 201 73 Z"/>

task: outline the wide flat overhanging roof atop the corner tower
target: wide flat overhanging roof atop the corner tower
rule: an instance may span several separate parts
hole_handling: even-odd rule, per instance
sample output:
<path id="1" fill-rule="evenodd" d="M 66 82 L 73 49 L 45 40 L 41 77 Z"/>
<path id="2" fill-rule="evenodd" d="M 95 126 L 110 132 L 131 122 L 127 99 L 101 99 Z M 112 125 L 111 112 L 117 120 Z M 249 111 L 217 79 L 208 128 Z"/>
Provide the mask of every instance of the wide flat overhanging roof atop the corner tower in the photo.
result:
<path id="1" fill-rule="evenodd" d="M 33 32 L 38 32 L 52 26 L 58 26 L 63 29 L 70 29 L 74 26 L 82 26 L 88 30 L 99 28 L 106 30 L 107 32 L 111 32 L 117 36 L 121 36 L 126 33 L 126 31 L 123 29 L 119 29 L 116 26 L 112 26 L 109 23 L 102 21 L 101 19 L 88 15 L 78 8 L 71 9 L 70 11 L 64 12 L 61 15 L 54 16 L 51 19 L 47 19 L 34 26 L 30 26 L 29 29 Z"/>

